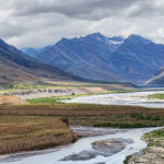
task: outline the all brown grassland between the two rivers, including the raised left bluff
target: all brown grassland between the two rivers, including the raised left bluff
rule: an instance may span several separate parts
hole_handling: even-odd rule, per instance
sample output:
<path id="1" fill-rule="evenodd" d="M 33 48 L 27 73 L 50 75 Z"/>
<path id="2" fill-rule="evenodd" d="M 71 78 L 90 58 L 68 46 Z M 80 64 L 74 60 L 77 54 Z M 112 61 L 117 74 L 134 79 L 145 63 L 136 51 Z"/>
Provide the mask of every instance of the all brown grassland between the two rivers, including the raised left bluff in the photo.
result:
<path id="1" fill-rule="evenodd" d="M 74 137 L 65 122 L 70 126 L 93 127 L 160 127 L 164 126 L 164 110 L 80 104 L 1 105 L 0 153 L 70 143 L 74 141 Z"/>

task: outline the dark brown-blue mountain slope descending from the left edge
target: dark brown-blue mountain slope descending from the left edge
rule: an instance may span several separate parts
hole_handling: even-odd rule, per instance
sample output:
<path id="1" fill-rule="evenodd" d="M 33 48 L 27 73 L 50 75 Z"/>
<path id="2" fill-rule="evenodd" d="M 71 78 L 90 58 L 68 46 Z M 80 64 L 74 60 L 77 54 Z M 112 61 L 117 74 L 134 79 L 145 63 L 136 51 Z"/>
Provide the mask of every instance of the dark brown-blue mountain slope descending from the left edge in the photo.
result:
<path id="1" fill-rule="evenodd" d="M 58 68 L 39 63 L 0 39 L 0 83 L 39 82 L 42 79 L 80 80 Z"/>

